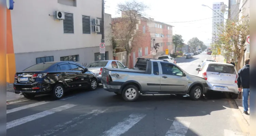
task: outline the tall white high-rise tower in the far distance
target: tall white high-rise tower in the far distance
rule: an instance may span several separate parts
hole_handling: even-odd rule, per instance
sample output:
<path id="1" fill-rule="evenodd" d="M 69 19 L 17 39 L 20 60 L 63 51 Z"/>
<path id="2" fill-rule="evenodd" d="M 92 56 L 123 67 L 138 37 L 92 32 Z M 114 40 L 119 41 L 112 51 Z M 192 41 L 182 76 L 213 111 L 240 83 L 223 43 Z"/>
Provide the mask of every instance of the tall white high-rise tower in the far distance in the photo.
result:
<path id="1" fill-rule="evenodd" d="M 224 2 L 215 2 L 212 5 L 212 43 L 218 39 L 218 30 L 217 27 L 224 23 L 224 13 L 221 11 L 221 6 L 224 5 Z"/>

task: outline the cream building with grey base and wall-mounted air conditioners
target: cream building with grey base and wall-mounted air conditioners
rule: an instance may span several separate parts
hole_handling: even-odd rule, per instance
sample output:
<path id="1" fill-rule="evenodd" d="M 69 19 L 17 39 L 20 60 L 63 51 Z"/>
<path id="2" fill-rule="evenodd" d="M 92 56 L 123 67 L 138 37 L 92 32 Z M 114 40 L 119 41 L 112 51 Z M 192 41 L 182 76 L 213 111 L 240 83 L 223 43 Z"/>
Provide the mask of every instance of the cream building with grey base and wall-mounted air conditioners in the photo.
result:
<path id="1" fill-rule="evenodd" d="M 97 30 L 102 28 L 101 2 L 15 1 L 15 8 L 7 12 L 7 45 L 15 56 L 8 61 L 9 68 L 12 67 L 8 69 L 16 72 L 49 61 L 74 61 L 86 65 L 92 61 L 112 59 L 110 14 L 105 14 L 106 52 L 104 55 L 99 53 L 102 32 Z M 55 11 L 60 12 L 58 17 L 61 15 L 65 19 L 55 19 Z M 94 23 L 94 19 L 99 23 Z M 11 78 L 13 72 L 10 73 Z"/>

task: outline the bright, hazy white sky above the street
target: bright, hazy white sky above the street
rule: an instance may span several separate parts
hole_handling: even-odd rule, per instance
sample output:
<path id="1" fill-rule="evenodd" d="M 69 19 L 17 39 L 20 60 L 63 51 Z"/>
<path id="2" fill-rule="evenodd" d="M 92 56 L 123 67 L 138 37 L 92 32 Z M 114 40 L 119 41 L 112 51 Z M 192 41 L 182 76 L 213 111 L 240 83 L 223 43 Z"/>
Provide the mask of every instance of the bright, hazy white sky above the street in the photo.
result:
<path id="1" fill-rule="evenodd" d="M 106 0 L 105 13 L 111 14 L 112 17 L 118 17 L 118 3 L 124 3 L 127 0 Z M 224 2 L 228 5 L 228 0 L 137 0 L 145 3 L 150 10 L 144 14 L 147 17 L 154 18 L 157 21 L 165 22 L 174 26 L 173 34 L 183 36 L 185 43 L 193 37 L 203 41 L 205 45 L 211 43 L 212 34 L 212 7 L 214 2 Z M 227 15 L 224 16 L 227 18 Z M 210 18 L 210 19 L 205 19 Z M 205 20 L 200 20 L 205 19 Z M 200 21 L 193 21 L 200 20 Z M 183 23 L 173 23 L 182 21 L 193 21 Z M 171 23 L 172 22 L 172 23 Z"/>

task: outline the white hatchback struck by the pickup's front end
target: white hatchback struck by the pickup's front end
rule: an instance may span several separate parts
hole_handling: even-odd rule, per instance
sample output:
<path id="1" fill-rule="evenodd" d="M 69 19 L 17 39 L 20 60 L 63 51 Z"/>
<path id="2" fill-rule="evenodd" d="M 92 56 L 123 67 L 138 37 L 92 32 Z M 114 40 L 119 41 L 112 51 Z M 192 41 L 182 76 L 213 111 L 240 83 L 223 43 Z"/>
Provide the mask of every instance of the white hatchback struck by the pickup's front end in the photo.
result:
<path id="1" fill-rule="evenodd" d="M 198 76 L 207 80 L 208 91 L 229 92 L 232 99 L 239 95 L 237 86 L 237 70 L 232 64 L 207 62 L 196 69 Z M 209 93 L 206 93 L 207 96 Z"/>

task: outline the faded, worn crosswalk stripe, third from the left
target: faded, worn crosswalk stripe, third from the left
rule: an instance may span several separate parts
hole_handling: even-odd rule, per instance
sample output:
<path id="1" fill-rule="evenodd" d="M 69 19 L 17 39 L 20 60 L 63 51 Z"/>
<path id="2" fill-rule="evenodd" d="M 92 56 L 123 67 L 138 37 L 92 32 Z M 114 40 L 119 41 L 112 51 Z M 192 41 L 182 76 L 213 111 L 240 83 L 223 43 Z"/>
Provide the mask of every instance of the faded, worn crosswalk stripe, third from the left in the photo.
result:
<path id="1" fill-rule="evenodd" d="M 95 109 L 90 113 L 84 114 L 84 115 L 80 115 L 79 117 L 75 117 L 70 121 L 64 122 L 63 124 L 57 125 L 54 127 L 54 129 L 51 130 L 46 130 L 44 131 L 44 134 L 39 134 L 39 135 L 34 135 L 34 136 L 48 136 L 51 135 L 55 132 L 58 132 L 60 130 L 63 130 L 62 132 L 67 131 L 69 128 L 73 128 L 74 126 L 76 126 L 77 124 L 81 124 L 83 123 L 85 120 L 91 119 L 101 113 L 104 113 L 105 111 L 107 111 L 108 109 L 105 109 L 103 111 L 99 110 L 99 109 Z M 89 118 L 85 118 L 86 116 L 90 116 Z M 58 135 L 58 134 L 57 134 Z"/>

